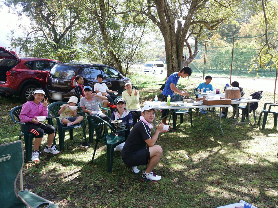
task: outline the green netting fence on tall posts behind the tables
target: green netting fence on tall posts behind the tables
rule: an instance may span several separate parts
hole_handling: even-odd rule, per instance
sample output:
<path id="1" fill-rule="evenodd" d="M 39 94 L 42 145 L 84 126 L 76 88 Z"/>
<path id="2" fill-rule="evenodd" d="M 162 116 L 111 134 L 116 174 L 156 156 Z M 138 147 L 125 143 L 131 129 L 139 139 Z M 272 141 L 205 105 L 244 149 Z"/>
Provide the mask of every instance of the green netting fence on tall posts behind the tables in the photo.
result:
<path id="1" fill-rule="evenodd" d="M 278 32 L 268 34 L 271 44 L 278 48 Z M 276 67 L 273 62 L 269 66 L 261 66 L 259 59 L 255 60 L 261 50 L 264 36 L 234 37 L 220 40 L 210 40 L 199 44 L 197 57 L 189 64 L 195 75 L 213 75 L 215 77 L 230 77 L 231 66 L 233 77 L 265 77 L 275 78 Z M 193 47 L 194 50 L 194 47 Z M 272 51 L 272 54 L 278 55 Z M 233 60 L 233 61 L 232 61 Z"/>

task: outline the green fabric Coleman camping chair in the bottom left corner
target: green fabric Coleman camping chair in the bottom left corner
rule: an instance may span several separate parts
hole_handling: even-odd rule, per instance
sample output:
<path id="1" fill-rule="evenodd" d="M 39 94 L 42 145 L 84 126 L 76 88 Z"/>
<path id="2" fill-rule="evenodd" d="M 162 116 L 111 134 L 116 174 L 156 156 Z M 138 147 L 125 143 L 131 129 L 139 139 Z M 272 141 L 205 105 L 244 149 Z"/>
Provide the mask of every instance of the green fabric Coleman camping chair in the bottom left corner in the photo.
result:
<path id="1" fill-rule="evenodd" d="M 23 189 L 24 163 L 22 141 L 0 145 L 0 207 L 1 208 L 55 208 L 56 204 Z M 20 191 L 16 193 L 16 181 L 20 175 Z"/>

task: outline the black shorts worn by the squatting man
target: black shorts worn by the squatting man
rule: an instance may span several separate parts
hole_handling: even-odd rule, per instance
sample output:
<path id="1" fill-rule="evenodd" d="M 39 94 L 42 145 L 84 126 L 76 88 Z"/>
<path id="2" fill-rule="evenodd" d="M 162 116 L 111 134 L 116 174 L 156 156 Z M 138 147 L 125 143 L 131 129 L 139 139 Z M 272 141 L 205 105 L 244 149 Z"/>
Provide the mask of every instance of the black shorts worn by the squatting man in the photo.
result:
<path id="1" fill-rule="evenodd" d="M 123 151 L 122 151 L 122 161 L 124 161 L 124 163 L 127 166 L 147 165 L 149 159 L 150 159 L 149 147 L 145 147 L 140 150 L 137 150 L 129 157 L 123 157 Z"/>

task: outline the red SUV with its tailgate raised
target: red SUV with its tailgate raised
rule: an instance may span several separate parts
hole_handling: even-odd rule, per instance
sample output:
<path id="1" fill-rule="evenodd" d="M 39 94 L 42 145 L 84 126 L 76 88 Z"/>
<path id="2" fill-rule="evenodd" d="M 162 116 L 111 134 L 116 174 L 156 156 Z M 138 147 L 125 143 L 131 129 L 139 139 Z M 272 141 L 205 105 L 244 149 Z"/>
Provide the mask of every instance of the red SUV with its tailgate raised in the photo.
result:
<path id="1" fill-rule="evenodd" d="M 36 88 L 46 87 L 52 67 L 61 63 L 43 58 L 19 58 L 14 51 L 0 47 L 0 96 L 19 95 L 25 102 Z"/>

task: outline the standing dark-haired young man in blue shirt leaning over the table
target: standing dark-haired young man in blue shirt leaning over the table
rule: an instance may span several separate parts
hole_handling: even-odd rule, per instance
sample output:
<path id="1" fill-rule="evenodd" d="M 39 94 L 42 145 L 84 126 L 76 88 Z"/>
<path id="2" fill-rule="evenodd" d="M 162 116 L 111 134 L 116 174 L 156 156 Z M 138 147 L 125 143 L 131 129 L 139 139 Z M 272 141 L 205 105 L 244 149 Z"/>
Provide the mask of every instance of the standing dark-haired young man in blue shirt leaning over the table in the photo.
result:
<path id="1" fill-rule="evenodd" d="M 165 84 L 165 88 L 164 90 L 162 91 L 162 98 L 161 100 L 162 101 L 167 101 L 167 97 L 168 95 L 170 95 L 170 97 L 173 96 L 173 92 L 176 92 L 180 95 L 183 95 L 183 96 L 188 96 L 188 93 L 187 92 L 184 92 L 184 91 L 181 91 L 179 88 L 177 88 L 177 83 L 180 79 L 180 77 L 189 77 L 191 75 L 192 71 L 191 71 L 191 68 L 190 67 L 184 67 L 182 68 L 182 70 L 180 70 L 179 72 L 174 72 L 173 74 L 171 74 L 167 81 L 166 81 L 166 84 Z M 162 110 L 162 122 L 164 124 L 167 124 L 167 110 Z M 172 129 L 169 129 L 169 131 L 173 131 Z"/>

